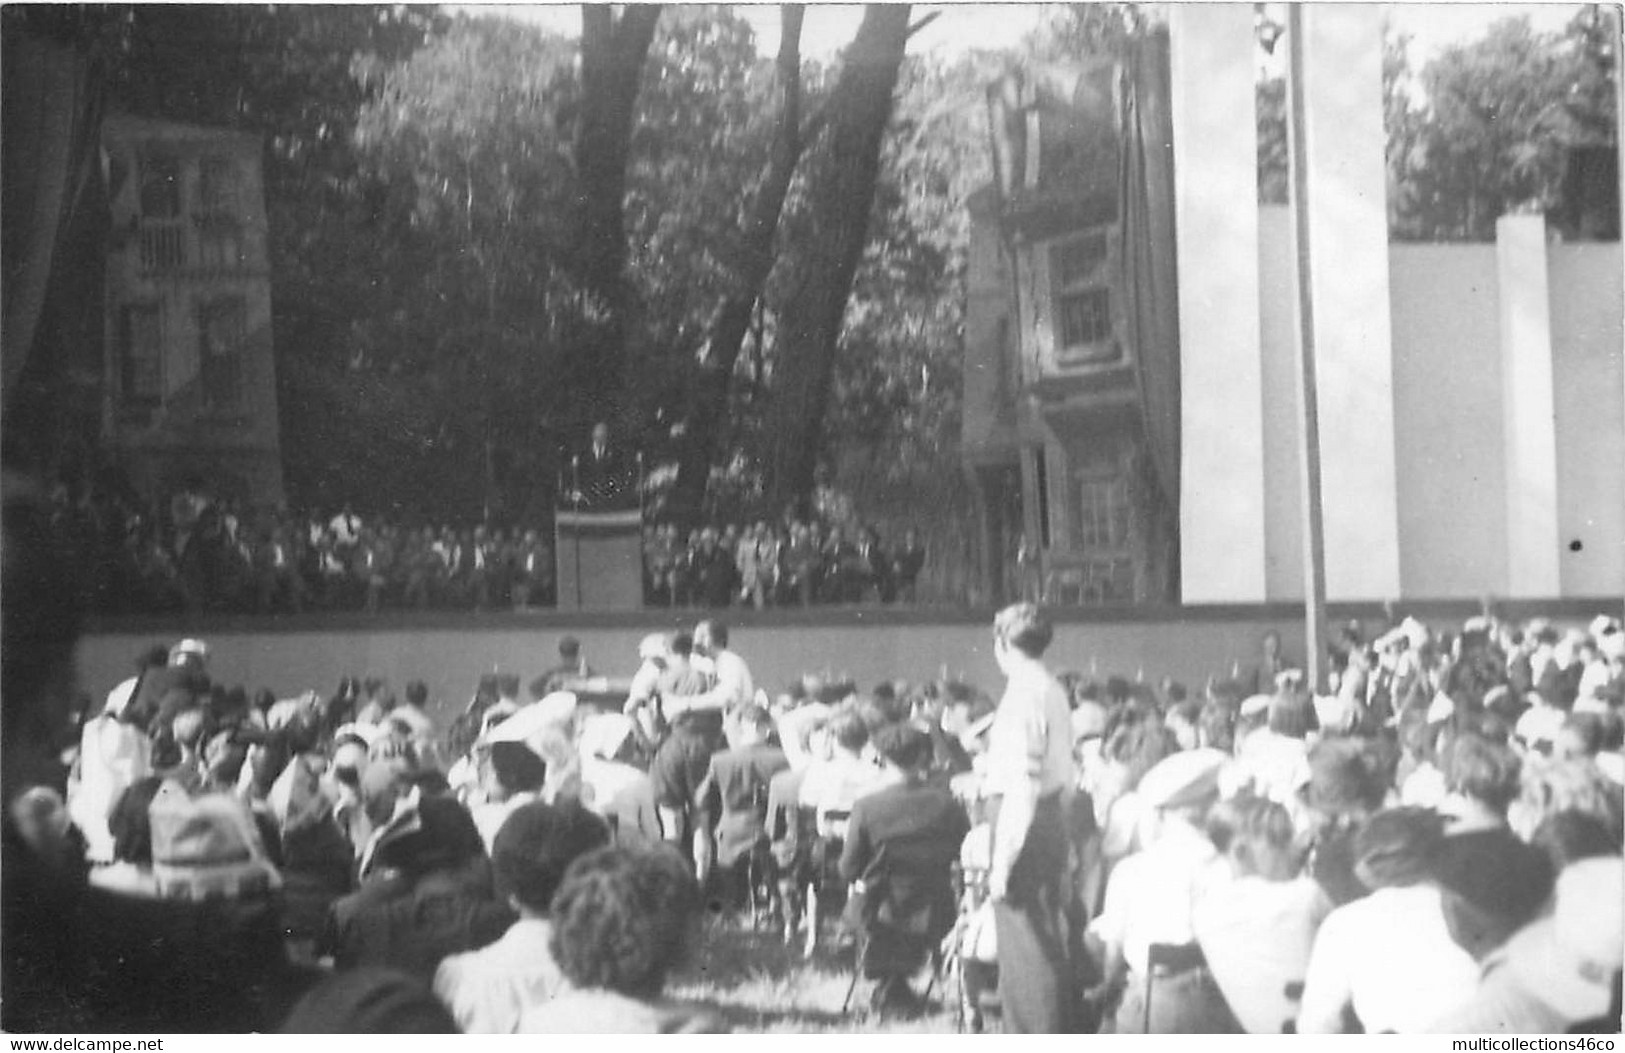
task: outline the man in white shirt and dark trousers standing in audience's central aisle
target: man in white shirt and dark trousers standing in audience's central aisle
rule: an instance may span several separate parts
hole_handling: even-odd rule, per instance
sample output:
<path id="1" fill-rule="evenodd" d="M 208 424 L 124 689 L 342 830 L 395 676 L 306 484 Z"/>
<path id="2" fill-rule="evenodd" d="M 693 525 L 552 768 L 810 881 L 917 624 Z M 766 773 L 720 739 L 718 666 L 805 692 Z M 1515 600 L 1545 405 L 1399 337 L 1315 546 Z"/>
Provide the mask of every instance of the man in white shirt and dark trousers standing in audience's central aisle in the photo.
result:
<path id="1" fill-rule="evenodd" d="M 1053 637 L 1032 603 L 1008 606 L 993 619 L 993 656 L 1009 682 L 988 746 L 985 785 L 994 816 L 988 895 L 1004 1030 L 1027 1035 L 1077 1025 L 1066 928 L 1068 816 L 1077 770 L 1066 691 L 1043 665 Z"/>

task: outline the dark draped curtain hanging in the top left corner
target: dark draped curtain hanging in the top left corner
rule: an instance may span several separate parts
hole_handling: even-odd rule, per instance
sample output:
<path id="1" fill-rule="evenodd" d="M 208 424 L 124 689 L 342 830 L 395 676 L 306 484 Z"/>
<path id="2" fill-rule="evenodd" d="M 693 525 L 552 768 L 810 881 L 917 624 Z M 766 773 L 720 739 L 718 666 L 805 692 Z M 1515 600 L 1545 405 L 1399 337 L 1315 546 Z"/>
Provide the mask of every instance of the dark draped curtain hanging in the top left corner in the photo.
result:
<path id="1" fill-rule="evenodd" d="M 63 232 L 99 167 L 106 13 L 8 6 L 0 23 L 0 382 L 6 408 L 34 354 Z"/>

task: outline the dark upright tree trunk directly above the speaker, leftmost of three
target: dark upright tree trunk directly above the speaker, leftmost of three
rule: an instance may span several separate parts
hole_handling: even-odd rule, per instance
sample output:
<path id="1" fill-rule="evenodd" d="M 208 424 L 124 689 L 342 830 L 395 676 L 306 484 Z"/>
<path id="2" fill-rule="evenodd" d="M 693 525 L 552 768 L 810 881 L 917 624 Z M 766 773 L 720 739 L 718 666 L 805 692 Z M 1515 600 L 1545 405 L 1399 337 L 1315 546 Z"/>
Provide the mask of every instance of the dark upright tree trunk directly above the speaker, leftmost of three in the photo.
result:
<path id="1" fill-rule="evenodd" d="M 626 387 L 632 307 L 626 281 L 626 169 L 644 60 L 660 21 L 658 3 L 582 5 L 582 115 L 575 135 L 577 255 L 582 286 L 601 322 L 575 344 L 567 382 L 590 418 L 613 416 Z"/>

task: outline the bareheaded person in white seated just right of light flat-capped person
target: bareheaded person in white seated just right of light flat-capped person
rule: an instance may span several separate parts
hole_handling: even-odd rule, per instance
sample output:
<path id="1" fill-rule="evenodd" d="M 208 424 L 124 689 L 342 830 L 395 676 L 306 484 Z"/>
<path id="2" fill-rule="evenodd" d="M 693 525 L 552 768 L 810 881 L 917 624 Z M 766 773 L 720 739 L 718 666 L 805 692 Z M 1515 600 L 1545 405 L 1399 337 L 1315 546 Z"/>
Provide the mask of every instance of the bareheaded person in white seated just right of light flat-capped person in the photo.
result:
<path id="1" fill-rule="evenodd" d="M 1224 864 L 1198 887 L 1191 928 L 1242 1027 L 1274 1035 L 1297 1012 L 1287 986 L 1303 980 L 1331 900 L 1303 873 L 1292 816 L 1280 804 L 1258 796 L 1220 801 L 1209 835 L 1216 826 L 1227 834 L 1224 845 L 1216 837 Z"/>

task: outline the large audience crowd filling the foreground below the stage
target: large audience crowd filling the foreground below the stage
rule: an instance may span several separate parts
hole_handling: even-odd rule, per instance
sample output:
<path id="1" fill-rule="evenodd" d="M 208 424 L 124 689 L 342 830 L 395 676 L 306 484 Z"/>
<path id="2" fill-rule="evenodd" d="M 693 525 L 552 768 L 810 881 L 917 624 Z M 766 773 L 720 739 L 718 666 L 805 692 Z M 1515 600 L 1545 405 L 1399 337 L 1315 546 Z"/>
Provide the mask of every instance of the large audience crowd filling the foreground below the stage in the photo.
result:
<path id="1" fill-rule="evenodd" d="M 624 700 L 570 652 L 450 726 L 421 682 L 223 689 L 187 639 L 73 722 L 29 507 L 8 1030 L 720 1030 L 670 982 L 728 913 L 850 942 L 876 1014 L 930 985 L 968 1029 L 1618 1027 L 1618 618 L 1350 626 L 1318 694 L 1274 637 L 1198 691 L 1095 682 L 1016 604 L 999 694 L 777 696 L 707 619 L 645 639 Z M 944 962 L 957 985 L 923 985 Z"/>

